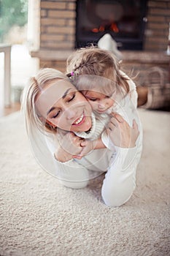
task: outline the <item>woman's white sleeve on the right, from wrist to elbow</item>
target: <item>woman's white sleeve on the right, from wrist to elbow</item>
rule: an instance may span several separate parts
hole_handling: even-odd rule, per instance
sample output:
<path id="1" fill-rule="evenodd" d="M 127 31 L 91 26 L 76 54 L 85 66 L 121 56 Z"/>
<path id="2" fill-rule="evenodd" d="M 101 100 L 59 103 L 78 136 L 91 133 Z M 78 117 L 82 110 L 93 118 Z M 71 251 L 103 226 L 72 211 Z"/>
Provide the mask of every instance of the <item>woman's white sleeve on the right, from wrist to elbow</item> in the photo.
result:
<path id="1" fill-rule="evenodd" d="M 101 195 L 107 206 L 121 206 L 127 202 L 136 187 L 136 167 L 141 157 L 142 145 L 119 148 L 105 175 Z"/>

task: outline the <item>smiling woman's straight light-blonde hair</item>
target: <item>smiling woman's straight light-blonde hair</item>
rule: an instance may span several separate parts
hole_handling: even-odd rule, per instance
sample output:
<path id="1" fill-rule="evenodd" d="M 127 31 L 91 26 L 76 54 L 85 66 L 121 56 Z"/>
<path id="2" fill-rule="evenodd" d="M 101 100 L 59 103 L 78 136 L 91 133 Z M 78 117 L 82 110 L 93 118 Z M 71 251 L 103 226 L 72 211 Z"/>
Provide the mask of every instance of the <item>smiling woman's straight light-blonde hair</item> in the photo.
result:
<path id="1" fill-rule="evenodd" d="M 30 78 L 28 85 L 23 90 L 21 99 L 21 108 L 26 116 L 26 129 L 28 133 L 31 128 L 34 129 L 35 127 L 41 131 L 45 131 L 46 127 L 48 132 L 55 132 L 55 128 L 47 124 L 47 122 L 42 120 L 42 117 L 39 116 L 35 103 L 39 93 L 45 86 L 49 84 L 53 85 L 56 80 L 62 79 L 68 80 L 62 72 L 50 68 L 40 69 L 35 77 Z"/>

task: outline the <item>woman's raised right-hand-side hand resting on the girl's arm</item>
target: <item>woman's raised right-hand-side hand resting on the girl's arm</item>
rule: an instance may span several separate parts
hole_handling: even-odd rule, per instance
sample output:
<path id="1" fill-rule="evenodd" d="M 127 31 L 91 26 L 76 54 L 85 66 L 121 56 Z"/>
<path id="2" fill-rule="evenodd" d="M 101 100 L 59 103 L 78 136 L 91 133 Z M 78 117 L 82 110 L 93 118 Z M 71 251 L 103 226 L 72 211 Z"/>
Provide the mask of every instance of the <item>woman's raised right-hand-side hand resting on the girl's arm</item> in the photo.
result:
<path id="1" fill-rule="evenodd" d="M 112 118 L 108 124 L 108 135 L 112 143 L 120 148 L 134 148 L 139 136 L 139 129 L 136 121 L 133 121 L 133 127 L 117 113 L 112 113 Z"/>

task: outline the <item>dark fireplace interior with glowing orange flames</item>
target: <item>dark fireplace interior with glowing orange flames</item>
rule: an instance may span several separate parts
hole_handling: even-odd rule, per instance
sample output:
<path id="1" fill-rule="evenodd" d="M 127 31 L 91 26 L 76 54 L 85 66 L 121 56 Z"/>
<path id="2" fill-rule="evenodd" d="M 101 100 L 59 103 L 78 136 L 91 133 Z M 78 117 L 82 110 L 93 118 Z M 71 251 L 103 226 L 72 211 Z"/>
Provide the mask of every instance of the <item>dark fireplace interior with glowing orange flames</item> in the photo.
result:
<path id="1" fill-rule="evenodd" d="M 75 48 L 110 34 L 120 50 L 142 50 L 146 12 L 147 0 L 77 0 Z"/>

